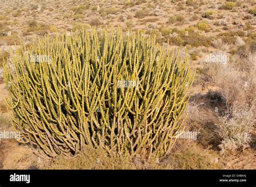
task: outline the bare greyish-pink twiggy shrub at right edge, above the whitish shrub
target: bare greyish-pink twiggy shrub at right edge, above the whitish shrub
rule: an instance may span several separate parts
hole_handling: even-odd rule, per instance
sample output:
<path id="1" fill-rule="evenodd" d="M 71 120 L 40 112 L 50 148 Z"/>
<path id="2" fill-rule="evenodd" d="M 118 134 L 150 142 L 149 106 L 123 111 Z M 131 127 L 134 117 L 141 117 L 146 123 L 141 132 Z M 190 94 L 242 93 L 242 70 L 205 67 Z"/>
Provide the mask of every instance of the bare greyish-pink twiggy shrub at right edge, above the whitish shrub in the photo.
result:
<path id="1" fill-rule="evenodd" d="M 228 64 L 206 64 L 205 80 L 219 88 L 228 108 L 255 104 L 255 53 L 241 58 L 236 55 Z"/>

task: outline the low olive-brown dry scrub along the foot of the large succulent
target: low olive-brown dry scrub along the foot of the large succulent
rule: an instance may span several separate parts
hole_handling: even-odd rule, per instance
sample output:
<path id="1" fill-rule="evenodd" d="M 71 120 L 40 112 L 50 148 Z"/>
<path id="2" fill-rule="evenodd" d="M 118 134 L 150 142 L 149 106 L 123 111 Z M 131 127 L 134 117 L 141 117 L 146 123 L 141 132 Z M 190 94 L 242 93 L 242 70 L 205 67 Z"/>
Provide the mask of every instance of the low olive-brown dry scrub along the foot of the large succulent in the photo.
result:
<path id="1" fill-rule="evenodd" d="M 151 160 L 141 155 L 110 156 L 103 149 L 84 147 L 75 157 L 59 155 L 41 169 L 220 169 L 220 165 L 214 163 L 216 156 L 196 143 L 181 152 Z"/>

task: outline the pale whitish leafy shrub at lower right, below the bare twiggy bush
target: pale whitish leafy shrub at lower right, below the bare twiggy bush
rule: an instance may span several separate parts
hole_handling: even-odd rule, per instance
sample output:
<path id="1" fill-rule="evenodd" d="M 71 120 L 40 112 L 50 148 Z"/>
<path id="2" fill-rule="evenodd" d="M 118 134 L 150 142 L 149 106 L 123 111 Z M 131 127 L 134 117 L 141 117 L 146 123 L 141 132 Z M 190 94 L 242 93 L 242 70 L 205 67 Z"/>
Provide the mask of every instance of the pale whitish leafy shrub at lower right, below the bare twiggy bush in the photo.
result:
<path id="1" fill-rule="evenodd" d="M 244 150 L 250 146 L 251 135 L 255 124 L 254 112 L 252 109 L 233 109 L 232 114 L 219 118 L 217 135 L 221 139 L 219 148 L 221 153 Z"/>

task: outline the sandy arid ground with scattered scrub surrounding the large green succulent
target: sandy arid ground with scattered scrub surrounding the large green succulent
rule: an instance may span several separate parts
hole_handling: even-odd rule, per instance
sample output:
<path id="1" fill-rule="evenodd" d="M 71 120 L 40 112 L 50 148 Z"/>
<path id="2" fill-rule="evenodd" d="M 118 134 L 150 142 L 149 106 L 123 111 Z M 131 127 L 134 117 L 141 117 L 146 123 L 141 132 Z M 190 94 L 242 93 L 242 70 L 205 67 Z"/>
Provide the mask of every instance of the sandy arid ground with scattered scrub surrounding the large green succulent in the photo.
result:
<path id="1" fill-rule="evenodd" d="M 144 32 L 190 57 L 196 71 L 186 112 L 186 132 L 173 153 L 155 161 L 108 157 L 87 150 L 66 158 L 41 158 L 14 139 L 0 140 L 1 169 L 256 169 L 256 2 L 250 0 L 3 0 L 0 6 L 0 131 L 15 131 L 6 106 L 3 58 L 44 35 L 122 27 Z M 15 49 L 16 45 L 16 49 Z M 177 51 L 175 51 L 176 53 Z M 246 137 L 245 137 L 246 136 Z"/>

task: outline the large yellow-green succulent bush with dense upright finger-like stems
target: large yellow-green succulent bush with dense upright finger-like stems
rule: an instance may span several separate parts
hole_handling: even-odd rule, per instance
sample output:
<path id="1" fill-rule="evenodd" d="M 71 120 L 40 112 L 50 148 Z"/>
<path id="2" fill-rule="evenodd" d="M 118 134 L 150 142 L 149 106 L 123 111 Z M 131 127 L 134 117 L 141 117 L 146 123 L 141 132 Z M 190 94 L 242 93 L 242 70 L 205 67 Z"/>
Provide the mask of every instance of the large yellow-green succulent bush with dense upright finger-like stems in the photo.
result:
<path id="1" fill-rule="evenodd" d="M 22 46 L 4 62 L 13 125 L 36 153 L 74 155 L 84 146 L 109 154 L 169 153 L 183 130 L 194 75 L 188 57 L 143 33 L 107 28 Z"/>

